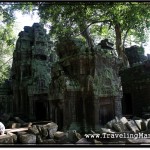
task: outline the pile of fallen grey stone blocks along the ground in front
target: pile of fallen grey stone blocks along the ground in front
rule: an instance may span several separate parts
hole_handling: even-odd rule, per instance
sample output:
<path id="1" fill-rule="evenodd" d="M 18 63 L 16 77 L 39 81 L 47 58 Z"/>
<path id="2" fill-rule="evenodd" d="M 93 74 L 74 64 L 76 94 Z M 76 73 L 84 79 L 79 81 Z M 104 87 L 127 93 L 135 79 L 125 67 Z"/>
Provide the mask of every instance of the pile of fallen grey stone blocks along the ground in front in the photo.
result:
<path id="1" fill-rule="evenodd" d="M 99 131 L 91 130 L 90 133 L 85 134 L 78 133 L 76 130 L 59 131 L 58 125 L 50 121 L 25 122 L 19 117 L 13 119 L 14 121 L 7 120 L 4 134 L 0 135 L 0 144 L 150 144 L 150 119 L 115 117 Z M 110 137 L 113 134 L 126 134 L 128 137 Z M 140 137 L 129 137 L 130 134 L 133 136 L 139 134 Z"/>

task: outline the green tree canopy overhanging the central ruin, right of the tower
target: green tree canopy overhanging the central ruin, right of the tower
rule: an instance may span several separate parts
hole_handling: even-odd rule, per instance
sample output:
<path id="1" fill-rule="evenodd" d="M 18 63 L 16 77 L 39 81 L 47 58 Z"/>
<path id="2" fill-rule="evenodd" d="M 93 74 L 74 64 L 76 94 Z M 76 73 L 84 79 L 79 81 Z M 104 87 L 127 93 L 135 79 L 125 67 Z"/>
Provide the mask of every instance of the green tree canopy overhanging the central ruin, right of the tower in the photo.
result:
<path id="1" fill-rule="evenodd" d="M 80 35 L 89 27 L 93 38 L 107 37 L 114 41 L 114 27 L 119 23 L 124 45 L 131 34 L 139 38 L 137 42 L 144 41 L 145 30 L 150 27 L 149 7 L 144 2 L 43 2 L 39 5 L 39 15 L 43 22 L 51 22 L 50 34 L 55 36 Z"/>

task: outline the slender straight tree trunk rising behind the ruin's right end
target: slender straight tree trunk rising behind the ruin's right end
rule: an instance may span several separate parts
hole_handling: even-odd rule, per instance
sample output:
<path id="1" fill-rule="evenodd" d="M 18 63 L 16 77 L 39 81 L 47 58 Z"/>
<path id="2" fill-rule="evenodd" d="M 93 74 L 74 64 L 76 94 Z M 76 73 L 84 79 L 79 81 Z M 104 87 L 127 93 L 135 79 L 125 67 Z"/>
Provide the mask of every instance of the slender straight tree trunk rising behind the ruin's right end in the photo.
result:
<path id="1" fill-rule="evenodd" d="M 124 48 L 122 45 L 121 27 L 119 23 L 115 25 L 115 33 L 116 33 L 116 50 L 118 53 L 118 57 L 122 59 L 123 65 L 127 67 L 128 59 L 125 55 Z"/>

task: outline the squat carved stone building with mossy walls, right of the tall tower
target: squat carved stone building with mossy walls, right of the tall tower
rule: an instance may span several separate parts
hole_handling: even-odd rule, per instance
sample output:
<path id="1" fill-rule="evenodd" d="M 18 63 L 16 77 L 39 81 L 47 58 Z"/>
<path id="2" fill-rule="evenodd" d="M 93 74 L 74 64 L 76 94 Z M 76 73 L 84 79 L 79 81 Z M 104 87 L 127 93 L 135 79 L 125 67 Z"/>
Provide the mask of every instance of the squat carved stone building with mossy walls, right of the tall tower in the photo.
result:
<path id="1" fill-rule="evenodd" d="M 93 52 L 78 39 L 61 38 L 56 51 L 59 61 L 52 65 L 50 84 L 52 120 L 64 129 L 89 131 L 122 115 L 118 59 L 110 49 L 98 45 Z"/>

